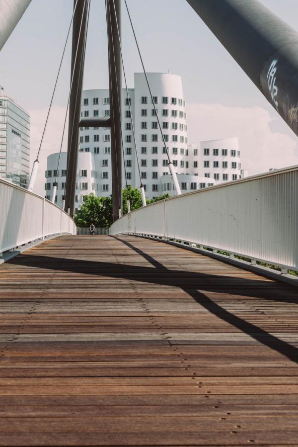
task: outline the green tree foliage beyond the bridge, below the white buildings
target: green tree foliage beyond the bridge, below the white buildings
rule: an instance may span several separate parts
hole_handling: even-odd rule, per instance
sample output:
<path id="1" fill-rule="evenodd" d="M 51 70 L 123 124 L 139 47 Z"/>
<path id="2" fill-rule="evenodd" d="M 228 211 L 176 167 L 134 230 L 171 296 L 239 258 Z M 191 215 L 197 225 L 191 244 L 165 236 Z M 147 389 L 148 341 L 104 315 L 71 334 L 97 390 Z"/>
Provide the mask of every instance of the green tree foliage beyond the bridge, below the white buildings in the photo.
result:
<path id="1" fill-rule="evenodd" d="M 139 188 L 128 186 L 131 211 L 142 206 L 142 195 Z M 123 214 L 127 213 L 127 190 L 122 191 Z M 146 200 L 147 204 L 157 202 L 170 197 L 163 194 L 152 200 Z M 95 227 L 110 227 L 113 222 L 112 214 L 112 194 L 109 197 L 96 197 L 93 193 L 84 196 L 83 202 L 79 205 L 74 222 L 77 227 L 89 227 L 91 223 Z"/>

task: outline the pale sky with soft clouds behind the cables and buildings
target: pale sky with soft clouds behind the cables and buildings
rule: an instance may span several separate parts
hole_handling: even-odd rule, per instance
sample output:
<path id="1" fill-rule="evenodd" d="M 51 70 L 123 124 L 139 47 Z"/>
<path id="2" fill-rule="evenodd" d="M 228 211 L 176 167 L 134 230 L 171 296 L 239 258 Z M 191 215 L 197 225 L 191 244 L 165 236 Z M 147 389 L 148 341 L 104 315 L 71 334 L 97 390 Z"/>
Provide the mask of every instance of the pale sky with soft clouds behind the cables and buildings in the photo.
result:
<path id="1" fill-rule="evenodd" d="M 220 0 L 218 0 L 220 1 Z M 249 1 L 249 0 L 243 0 Z M 298 164 L 298 140 L 185 0 L 127 0 L 146 70 L 182 77 L 190 143 L 238 136 L 250 174 Z M 261 0 L 297 29 L 297 0 Z M 34 160 L 72 16 L 73 0 L 32 0 L 0 52 L 0 85 L 31 115 Z M 124 8 L 122 38 L 129 86 L 142 71 Z M 59 151 L 70 83 L 70 46 L 41 154 Z M 84 89 L 108 87 L 104 0 L 91 0 Z"/>

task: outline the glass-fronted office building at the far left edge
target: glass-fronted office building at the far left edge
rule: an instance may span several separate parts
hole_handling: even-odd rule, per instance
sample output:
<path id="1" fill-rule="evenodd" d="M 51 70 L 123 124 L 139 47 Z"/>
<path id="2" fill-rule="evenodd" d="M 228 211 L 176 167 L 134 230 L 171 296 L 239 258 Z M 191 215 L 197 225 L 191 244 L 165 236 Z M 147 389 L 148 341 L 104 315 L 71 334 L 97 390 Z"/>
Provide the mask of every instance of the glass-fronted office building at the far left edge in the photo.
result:
<path id="1" fill-rule="evenodd" d="M 0 177 L 25 188 L 29 172 L 29 114 L 0 90 Z"/>

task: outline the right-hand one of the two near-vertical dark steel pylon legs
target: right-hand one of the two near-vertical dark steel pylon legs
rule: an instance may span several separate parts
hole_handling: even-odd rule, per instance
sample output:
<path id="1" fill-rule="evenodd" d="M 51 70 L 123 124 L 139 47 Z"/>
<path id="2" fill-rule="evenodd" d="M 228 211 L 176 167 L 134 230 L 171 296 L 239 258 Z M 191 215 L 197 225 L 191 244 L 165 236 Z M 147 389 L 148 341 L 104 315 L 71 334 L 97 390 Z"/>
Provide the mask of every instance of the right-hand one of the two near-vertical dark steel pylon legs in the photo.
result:
<path id="1" fill-rule="evenodd" d="M 115 3 L 115 8 L 114 8 Z M 115 15 L 116 11 L 116 15 Z M 109 84 L 111 115 L 111 160 L 113 189 L 113 222 L 122 215 L 122 151 L 121 151 L 121 53 L 117 30 L 121 36 L 121 0 L 107 1 L 107 27 L 109 52 Z M 119 102 L 118 102 L 119 101 Z M 120 116 L 119 116 L 120 107 Z"/>

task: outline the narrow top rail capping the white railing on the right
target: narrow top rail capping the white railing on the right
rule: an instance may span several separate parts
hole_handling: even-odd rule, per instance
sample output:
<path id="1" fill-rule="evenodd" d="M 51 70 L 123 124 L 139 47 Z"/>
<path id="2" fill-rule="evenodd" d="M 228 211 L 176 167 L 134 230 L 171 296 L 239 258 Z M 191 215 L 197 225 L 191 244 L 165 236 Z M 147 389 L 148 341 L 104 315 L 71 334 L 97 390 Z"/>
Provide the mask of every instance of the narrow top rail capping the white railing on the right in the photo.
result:
<path id="1" fill-rule="evenodd" d="M 257 180 L 257 179 L 265 179 L 267 177 L 278 176 L 280 174 L 285 174 L 285 173 L 288 173 L 288 172 L 295 172 L 295 171 L 298 171 L 298 165 L 289 166 L 287 168 L 277 169 L 276 171 L 268 171 L 266 173 L 256 174 L 254 176 L 245 177 L 244 179 L 225 181 L 224 183 L 216 184 L 214 186 L 208 186 L 207 188 L 202 188 L 202 189 L 197 189 L 195 191 L 185 192 L 185 193 L 183 193 L 181 195 L 173 195 L 172 197 L 168 197 L 168 198 L 166 198 L 164 200 L 168 201 L 168 200 L 175 200 L 175 199 L 178 199 L 178 198 L 181 199 L 181 197 L 186 197 L 188 195 L 200 194 L 202 192 L 208 192 L 210 190 L 224 188 L 224 187 L 231 186 L 231 185 L 234 185 L 234 184 L 245 183 L 245 182 L 249 182 L 249 181 L 253 181 L 253 180 Z M 208 178 L 206 177 L 206 182 L 207 182 L 207 180 L 208 180 Z M 159 203 L 159 202 L 149 203 L 147 205 L 147 207 L 148 206 L 154 206 L 154 205 L 156 205 L 156 203 Z M 135 211 L 139 211 L 141 209 L 143 209 L 143 207 L 137 208 L 137 209 L 131 211 L 131 213 L 134 213 Z"/>

